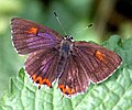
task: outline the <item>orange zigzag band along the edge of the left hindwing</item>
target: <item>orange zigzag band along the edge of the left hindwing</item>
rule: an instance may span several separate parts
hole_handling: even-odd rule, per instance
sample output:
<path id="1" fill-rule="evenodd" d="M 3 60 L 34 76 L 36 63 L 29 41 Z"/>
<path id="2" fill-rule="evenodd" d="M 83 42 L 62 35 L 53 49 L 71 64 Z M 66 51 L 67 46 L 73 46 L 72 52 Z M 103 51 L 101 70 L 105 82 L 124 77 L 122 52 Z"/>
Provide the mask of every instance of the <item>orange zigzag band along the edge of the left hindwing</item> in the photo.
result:
<path id="1" fill-rule="evenodd" d="M 48 87 L 52 87 L 52 82 L 47 78 L 42 78 L 41 76 L 36 76 L 35 74 L 32 76 L 33 81 L 40 85 L 47 85 Z"/>

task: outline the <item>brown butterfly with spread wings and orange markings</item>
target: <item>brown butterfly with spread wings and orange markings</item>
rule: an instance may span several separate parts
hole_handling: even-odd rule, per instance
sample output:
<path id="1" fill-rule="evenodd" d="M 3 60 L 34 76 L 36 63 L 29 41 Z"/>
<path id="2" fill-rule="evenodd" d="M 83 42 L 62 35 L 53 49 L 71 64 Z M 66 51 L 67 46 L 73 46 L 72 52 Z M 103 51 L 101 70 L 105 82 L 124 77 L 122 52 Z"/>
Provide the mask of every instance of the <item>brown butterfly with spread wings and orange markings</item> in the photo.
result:
<path id="1" fill-rule="evenodd" d="M 29 54 L 25 72 L 36 84 L 52 88 L 57 81 L 65 96 L 82 94 L 121 65 L 121 57 L 98 44 L 75 41 L 21 18 L 11 19 L 12 42 L 19 54 Z"/>

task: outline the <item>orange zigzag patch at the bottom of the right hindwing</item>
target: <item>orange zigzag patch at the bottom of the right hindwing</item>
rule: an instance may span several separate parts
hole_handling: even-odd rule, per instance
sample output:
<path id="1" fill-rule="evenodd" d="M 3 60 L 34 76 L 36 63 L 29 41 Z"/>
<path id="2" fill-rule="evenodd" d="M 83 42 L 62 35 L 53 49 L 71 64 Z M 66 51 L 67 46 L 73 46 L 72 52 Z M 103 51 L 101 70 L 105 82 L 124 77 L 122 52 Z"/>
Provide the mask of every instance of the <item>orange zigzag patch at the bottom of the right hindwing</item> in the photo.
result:
<path id="1" fill-rule="evenodd" d="M 69 88 L 68 86 L 59 85 L 58 88 L 62 90 L 63 94 L 66 94 L 66 95 L 74 95 L 75 94 L 75 89 Z"/>

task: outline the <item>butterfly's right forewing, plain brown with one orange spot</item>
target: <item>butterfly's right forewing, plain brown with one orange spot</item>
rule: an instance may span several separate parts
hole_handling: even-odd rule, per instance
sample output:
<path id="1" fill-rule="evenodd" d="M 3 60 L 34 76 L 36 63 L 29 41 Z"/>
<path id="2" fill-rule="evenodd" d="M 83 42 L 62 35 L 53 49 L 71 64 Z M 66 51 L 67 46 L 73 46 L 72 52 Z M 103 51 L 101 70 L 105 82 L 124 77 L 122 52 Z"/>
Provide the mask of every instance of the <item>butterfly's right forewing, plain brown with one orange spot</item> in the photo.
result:
<path id="1" fill-rule="evenodd" d="M 122 62 L 114 52 L 89 42 L 75 42 L 74 51 L 95 84 L 107 79 Z"/>

